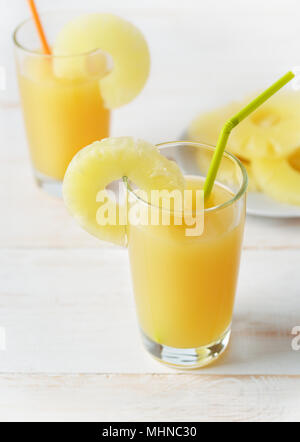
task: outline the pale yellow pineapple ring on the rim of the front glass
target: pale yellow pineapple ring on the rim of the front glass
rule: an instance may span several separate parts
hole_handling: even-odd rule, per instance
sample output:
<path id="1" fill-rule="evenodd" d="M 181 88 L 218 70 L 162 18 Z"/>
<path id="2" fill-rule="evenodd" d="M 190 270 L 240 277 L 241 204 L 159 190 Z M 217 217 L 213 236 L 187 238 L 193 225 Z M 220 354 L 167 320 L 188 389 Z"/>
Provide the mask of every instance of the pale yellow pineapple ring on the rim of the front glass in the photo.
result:
<path id="1" fill-rule="evenodd" d="M 100 202 L 99 192 L 122 177 L 128 177 L 146 192 L 183 189 L 184 177 L 177 164 L 161 155 L 156 146 L 131 137 L 96 141 L 75 155 L 63 182 L 68 210 L 92 235 L 124 246 L 126 226 L 117 223 L 120 207 L 116 201 L 110 200 L 116 209 L 116 224 L 101 225 L 97 221 L 98 209 L 104 202 Z"/>

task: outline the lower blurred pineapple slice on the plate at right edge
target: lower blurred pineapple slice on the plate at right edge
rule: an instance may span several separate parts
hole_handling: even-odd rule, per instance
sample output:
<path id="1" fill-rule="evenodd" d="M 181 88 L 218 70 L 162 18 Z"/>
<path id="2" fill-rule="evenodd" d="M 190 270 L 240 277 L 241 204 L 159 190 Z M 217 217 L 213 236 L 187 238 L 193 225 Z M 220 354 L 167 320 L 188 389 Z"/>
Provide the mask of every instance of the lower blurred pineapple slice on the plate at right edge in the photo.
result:
<path id="1" fill-rule="evenodd" d="M 256 158 L 252 170 L 266 195 L 282 203 L 300 206 L 300 171 L 288 159 Z"/>

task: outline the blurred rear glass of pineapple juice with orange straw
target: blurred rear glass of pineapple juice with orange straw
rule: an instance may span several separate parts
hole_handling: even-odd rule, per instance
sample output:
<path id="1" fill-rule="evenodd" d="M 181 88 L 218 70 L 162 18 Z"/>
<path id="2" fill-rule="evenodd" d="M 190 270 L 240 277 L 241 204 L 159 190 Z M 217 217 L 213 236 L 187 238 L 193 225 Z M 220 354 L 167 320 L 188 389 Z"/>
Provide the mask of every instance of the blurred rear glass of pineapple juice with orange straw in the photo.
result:
<path id="1" fill-rule="evenodd" d="M 42 16 L 50 45 L 74 14 Z M 21 104 L 37 184 L 61 195 L 61 183 L 73 156 L 95 140 L 109 136 L 110 112 L 104 107 L 99 80 L 111 69 L 101 51 L 68 57 L 45 55 L 32 19 L 13 35 Z M 58 78 L 55 62 L 84 66 L 82 76 Z"/>

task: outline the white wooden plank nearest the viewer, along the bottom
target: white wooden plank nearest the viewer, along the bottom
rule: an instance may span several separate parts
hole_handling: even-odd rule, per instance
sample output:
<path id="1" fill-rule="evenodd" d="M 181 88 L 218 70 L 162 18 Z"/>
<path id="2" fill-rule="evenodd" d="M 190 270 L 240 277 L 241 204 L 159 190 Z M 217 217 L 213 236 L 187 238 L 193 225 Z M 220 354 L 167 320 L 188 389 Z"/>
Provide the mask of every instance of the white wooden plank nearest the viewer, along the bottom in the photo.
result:
<path id="1" fill-rule="evenodd" d="M 1 375 L 0 421 L 300 421 L 300 377 Z"/>

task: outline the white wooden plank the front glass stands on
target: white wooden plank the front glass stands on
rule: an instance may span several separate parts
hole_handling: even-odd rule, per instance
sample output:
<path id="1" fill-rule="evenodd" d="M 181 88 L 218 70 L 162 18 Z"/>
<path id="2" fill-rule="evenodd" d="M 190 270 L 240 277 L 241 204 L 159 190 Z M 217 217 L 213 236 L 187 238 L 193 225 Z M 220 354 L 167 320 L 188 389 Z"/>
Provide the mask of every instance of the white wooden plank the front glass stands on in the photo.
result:
<path id="1" fill-rule="evenodd" d="M 244 252 L 233 337 L 199 373 L 299 374 L 300 250 Z M 127 252 L 0 250 L 0 372 L 174 373 L 142 351 Z"/>

